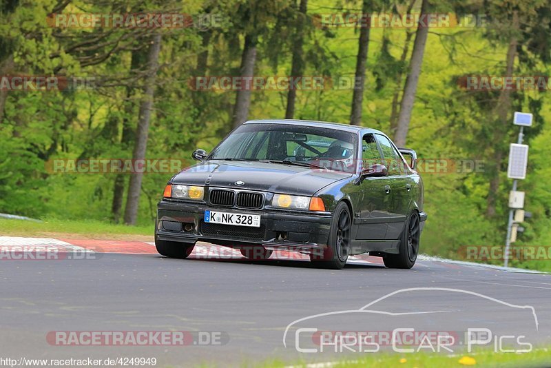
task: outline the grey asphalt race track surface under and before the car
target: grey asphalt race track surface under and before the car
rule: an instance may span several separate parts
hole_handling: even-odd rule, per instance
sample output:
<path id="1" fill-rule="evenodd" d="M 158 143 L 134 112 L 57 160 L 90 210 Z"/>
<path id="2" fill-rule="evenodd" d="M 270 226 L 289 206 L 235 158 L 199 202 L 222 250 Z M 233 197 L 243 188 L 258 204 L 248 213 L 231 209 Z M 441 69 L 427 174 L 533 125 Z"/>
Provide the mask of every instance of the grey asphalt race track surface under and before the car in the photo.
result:
<path id="1" fill-rule="evenodd" d="M 0 261 L 1 357 L 154 357 L 156 367 L 189 367 L 254 365 L 269 358 L 327 362 L 360 354 L 336 347 L 300 353 L 298 341 L 300 347 L 316 347 L 311 336 L 297 334 L 300 327 L 455 332 L 484 327 L 493 334 L 491 349 L 498 336 L 523 335 L 534 346 L 551 343 L 548 274 L 430 259 L 410 270 L 386 269 L 375 257 L 351 260 L 335 271 L 317 269 L 304 258 L 224 257 L 227 248 L 207 244 L 187 260 L 159 256 L 147 243 L 111 245 L 89 259 Z M 378 312 L 358 312 L 366 305 L 364 311 Z M 322 316 L 308 318 L 317 314 Z M 222 341 L 59 346 L 48 340 L 50 331 L 214 331 L 210 336 Z M 453 346 L 455 353 L 464 343 Z"/>

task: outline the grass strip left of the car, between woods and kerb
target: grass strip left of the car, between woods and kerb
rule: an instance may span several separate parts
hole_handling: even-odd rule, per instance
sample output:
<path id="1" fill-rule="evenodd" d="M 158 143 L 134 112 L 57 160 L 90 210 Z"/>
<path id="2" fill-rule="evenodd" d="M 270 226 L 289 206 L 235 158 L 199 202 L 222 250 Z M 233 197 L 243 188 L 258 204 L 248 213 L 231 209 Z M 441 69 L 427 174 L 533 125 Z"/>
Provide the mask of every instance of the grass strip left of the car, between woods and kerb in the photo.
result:
<path id="1" fill-rule="evenodd" d="M 59 220 L 47 218 L 40 223 L 0 218 L 1 236 L 47 236 L 48 234 L 81 235 L 98 238 L 114 236 L 153 236 L 154 223 L 147 226 L 116 225 L 104 221 Z"/>

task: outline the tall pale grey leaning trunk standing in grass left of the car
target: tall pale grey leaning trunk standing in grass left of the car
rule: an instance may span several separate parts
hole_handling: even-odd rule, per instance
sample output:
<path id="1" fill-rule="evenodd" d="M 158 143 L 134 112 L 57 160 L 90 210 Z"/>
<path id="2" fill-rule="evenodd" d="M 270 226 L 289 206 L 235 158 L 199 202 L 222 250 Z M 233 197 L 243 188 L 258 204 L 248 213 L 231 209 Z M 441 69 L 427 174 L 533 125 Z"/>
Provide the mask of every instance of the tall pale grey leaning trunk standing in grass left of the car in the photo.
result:
<path id="1" fill-rule="evenodd" d="M 138 127 L 136 129 L 136 141 L 134 143 L 134 152 L 132 154 L 132 160 L 134 163 L 136 163 L 137 160 L 145 159 L 145 152 L 147 150 L 147 134 L 149 133 L 149 119 L 153 108 L 155 79 L 158 70 L 158 57 L 160 52 L 160 39 L 160 34 L 154 34 L 152 37 L 152 44 L 149 46 L 149 53 L 147 54 L 148 73 L 145 79 L 144 96 L 140 103 Z M 142 178 L 142 172 L 134 172 L 130 176 L 125 207 L 125 224 L 127 225 L 136 225 Z"/>

